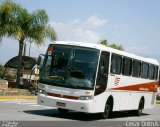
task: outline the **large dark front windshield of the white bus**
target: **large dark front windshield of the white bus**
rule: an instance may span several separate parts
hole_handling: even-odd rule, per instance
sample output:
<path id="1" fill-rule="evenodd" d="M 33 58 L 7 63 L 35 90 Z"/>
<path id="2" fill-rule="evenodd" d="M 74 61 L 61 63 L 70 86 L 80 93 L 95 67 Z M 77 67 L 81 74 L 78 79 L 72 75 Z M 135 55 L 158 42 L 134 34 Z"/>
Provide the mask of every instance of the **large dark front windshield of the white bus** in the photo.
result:
<path id="1" fill-rule="evenodd" d="M 40 82 L 59 87 L 92 90 L 98 56 L 97 49 L 50 45 Z"/>

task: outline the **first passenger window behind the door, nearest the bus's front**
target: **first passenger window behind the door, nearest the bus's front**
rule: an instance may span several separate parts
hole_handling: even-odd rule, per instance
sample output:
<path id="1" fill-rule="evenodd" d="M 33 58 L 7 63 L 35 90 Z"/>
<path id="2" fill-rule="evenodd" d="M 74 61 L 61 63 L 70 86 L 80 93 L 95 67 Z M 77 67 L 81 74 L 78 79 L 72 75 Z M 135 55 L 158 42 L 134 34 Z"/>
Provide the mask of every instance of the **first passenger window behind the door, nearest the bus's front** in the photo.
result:
<path id="1" fill-rule="evenodd" d="M 111 62 L 111 73 L 121 74 L 122 56 L 113 54 Z"/>

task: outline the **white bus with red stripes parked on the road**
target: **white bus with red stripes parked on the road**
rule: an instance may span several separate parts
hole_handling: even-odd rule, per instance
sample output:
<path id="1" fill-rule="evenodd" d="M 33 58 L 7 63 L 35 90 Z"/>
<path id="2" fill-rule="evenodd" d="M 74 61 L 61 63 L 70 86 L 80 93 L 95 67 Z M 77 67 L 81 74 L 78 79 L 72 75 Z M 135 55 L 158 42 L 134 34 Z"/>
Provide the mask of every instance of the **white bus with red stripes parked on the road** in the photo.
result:
<path id="1" fill-rule="evenodd" d="M 142 110 L 155 104 L 158 61 L 99 44 L 55 42 L 45 55 L 38 104 L 101 113 Z"/>

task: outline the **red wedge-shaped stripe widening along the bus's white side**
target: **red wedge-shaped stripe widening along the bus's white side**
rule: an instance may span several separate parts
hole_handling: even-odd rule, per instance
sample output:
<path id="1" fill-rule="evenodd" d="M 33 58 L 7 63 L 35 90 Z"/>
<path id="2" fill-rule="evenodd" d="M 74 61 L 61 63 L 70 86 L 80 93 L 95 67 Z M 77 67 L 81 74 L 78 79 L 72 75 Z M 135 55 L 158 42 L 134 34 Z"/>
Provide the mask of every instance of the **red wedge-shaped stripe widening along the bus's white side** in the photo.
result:
<path id="1" fill-rule="evenodd" d="M 111 90 L 157 92 L 157 86 L 158 86 L 158 82 L 149 82 L 149 83 L 143 83 L 143 84 L 111 88 Z"/>

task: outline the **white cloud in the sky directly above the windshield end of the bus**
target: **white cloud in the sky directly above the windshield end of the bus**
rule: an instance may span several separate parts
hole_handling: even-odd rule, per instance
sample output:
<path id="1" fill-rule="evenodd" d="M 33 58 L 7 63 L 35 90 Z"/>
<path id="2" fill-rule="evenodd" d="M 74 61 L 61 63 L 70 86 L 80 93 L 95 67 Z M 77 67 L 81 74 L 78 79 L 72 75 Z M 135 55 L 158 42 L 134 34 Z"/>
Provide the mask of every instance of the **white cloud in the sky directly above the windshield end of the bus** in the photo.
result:
<path id="1" fill-rule="evenodd" d="M 82 41 L 97 43 L 101 36 L 96 30 L 107 23 L 107 20 L 97 16 L 88 17 L 81 21 L 75 19 L 71 22 L 53 22 L 51 25 L 55 28 L 58 40 Z"/>

